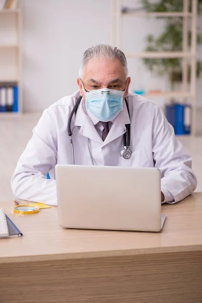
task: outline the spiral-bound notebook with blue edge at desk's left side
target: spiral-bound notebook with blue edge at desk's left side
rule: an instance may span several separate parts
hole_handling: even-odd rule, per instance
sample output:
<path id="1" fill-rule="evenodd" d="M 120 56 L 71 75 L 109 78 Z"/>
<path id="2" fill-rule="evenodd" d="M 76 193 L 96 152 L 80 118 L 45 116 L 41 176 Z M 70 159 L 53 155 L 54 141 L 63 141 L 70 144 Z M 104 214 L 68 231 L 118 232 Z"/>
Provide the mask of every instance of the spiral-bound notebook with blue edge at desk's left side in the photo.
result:
<path id="1" fill-rule="evenodd" d="M 0 209 L 0 238 L 8 238 L 13 235 L 23 236 L 17 226 L 5 214 L 4 210 Z"/>

